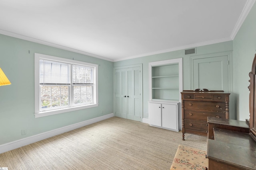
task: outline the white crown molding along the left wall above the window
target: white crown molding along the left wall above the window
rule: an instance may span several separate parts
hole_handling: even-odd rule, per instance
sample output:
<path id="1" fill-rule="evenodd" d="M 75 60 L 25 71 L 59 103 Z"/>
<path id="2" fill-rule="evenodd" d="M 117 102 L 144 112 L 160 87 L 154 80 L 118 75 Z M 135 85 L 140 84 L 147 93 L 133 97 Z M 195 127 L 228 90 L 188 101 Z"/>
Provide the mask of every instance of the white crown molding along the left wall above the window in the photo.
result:
<path id="1" fill-rule="evenodd" d="M 102 60 L 112 61 L 113 62 L 112 59 L 108 59 L 106 57 L 94 55 L 94 54 L 91 54 L 91 53 L 87 53 L 85 51 L 80 51 L 80 50 L 77 50 L 77 49 L 72 49 L 72 48 L 69 48 L 69 47 L 65 47 L 65 46 L 62 46 L 62 45 L 50 43 L 50 42 L 47 42 L 47 41 L 42 41 L 40 39 L 35 39 L 35 38 L 32 38 L 32 37 L 27 37 L 27 36 L 20 35 L 20 34 L 17 34 L 17 33 L 12 33 L 10 31 L 5 31 L 5 30 L 2 30 L 2 29 L 0 29 L 0 34 L 7 35 L 7 36 L 10 36 L 10 37 L 14 37 L 14 38 L 18 38 L 18 39 L 23 39 L 23 40 L 26 40 L 26 41 L 31 41 L 31 42 L 42 44 L 42 45 L 48 45 L 50 47 L 55 47 L 55 48 L 58 48 L 58 49 L 63 49 L 63 50 L 71 51 L 71 52 L 74 52 L 74 53 L 88 55 L 90 57 L 95 57 L 95 58 L 98 58 L 98 59 L 102 59 Z"/>

